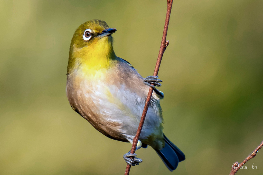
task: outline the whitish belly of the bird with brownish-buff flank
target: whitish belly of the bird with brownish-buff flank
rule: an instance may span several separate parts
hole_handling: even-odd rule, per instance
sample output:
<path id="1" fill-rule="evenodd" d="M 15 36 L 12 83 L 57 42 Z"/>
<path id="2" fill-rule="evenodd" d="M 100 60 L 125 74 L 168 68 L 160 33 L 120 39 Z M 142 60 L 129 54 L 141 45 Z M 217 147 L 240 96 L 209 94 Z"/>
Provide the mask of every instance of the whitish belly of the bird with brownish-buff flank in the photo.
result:
<path id="1" fill-rule="evenodd" d="M 116 81 L 113 84 L 104 79 L 90 80 L 84 76 L 68 79 L 67 95 L 71 105 L 82 116 L 88 117 L 93 126 L 94 122 L 100 123 L 100 130 L 114 130 L 132 142 L 143 112 L 145 96 L 129 90 L 125 83 Z M 149 106 L 140 139 L 146 139 L 155 132 L 162 122 L 160 115 L 156 105 Z"/>

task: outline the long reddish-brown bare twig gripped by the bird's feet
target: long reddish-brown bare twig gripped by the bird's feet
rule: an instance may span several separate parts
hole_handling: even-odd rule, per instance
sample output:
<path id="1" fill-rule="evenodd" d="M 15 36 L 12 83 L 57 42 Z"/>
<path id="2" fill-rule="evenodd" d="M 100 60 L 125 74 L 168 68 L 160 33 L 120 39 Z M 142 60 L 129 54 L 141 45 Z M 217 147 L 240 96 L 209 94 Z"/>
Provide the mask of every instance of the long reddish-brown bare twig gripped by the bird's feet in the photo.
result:
<path id="1" fill-rule="evenodd" d="M 160 64 L 161 64 L 161 60 L 163 58 L 164 51 L 165 51 L 166 47 L 169 44 L 169 41 L 166 41 L 166 36 L 167 36 L 167 30 L 168 30 L 168 25 L 169 25 L 169 20 L 170 20 L 172 4 L 173 4 L 173 0 L 167 0 L 167 12 L 166 12 L 166 17 L 165 17 L 163 38 L 161 40 L 161 46 L 160 46 L 157 62 L 156 62 L 154 73 L 153 73 L 154 76 L 158 75 L 158 71 L 159 71 L 159 68 L 160 68 Z M 147 96 L 146 102 L 145 102 L 145 106 L 144 106 L 144 109 L 143 109 L 143 114 L 141 115 L 141 120 L 140 120 L 140 123 L 139 123 L 139 127 L 138 127 L 136 135 L 135 135 L 135 137 L 133 139 L 133 144 L 132 144 L 131 152 L 130 152 L 131 154 L 133 154 L 135 152 L 135 148 L 136 148 L 136 145 L 137 145 L 138 140 L 139 140 L 141 129 L 143 128 L 143 123 L 144 123 L 145 116 L 146 116 L 146 113 L 147 113 L 147 110 L 148 110 L 148 107 L 149 107 L 149 104 L 150 104 L 150 99 L 151 99 L 152 94 L 153 94 L 153 88 L 150 88 L 149 92 L 148 92 L 148 96 Z M 125 170 L 125 175 L 129 174 L 130 168 L 131 168 L 131 166 L 129 164 L 127 164 L 126 170 Z"/>

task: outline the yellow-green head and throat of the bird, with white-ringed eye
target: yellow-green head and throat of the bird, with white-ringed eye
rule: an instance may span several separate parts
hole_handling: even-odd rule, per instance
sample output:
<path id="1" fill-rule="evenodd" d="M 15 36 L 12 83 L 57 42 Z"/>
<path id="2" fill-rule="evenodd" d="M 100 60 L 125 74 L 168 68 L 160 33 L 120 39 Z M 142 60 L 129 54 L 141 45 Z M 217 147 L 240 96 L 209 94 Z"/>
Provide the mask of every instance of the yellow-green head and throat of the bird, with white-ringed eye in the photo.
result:
<path id="1" fill-rule="evenodd" d="M 81 24 L 75 31 L 69 49 L 68 70 L 98 70 L 108 68 L 117 59 L 113 51 L 112 33 L 105 21 L 94 19 Z"/>

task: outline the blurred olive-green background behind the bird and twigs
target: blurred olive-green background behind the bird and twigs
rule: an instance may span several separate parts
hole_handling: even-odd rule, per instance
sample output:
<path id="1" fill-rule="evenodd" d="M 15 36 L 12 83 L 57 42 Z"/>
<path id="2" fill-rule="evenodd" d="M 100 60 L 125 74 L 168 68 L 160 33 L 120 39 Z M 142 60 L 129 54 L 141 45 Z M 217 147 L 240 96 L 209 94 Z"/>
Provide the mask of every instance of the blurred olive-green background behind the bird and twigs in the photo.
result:
<path id="1" fill-rule="evenodd" d="M 130 174 L 229 174 L 262 141 L 263 1 L 174 1 L 159 89 L 164 133 L 186 155 L 173 173 L 152 148 Z M 166 1 L 0 1 L 0 174 L 124 174 L 111 140 L 65 94 L 70 40 L 105 20 L 117 56 L 153 74 Z M 263 150 L 247 163 L 263 169 Z M 262 174 L 240 169 L 237 174 Z"/>

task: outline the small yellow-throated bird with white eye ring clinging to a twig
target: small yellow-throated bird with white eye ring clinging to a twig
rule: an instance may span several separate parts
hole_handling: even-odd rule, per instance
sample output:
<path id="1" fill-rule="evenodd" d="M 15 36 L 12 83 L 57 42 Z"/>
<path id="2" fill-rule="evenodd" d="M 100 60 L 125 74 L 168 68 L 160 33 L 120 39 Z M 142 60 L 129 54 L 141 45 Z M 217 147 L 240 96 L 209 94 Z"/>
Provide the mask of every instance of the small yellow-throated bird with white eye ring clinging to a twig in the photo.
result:
<path id="1" fill-rule="evenodd" d="M 160 99 L 163 92 L 158 76 L 143 78 L 126 60 L 115 55 L 112 34 L 102 20 L 81 24 L 70 43 L 66 93 L 68 101 L 79 115 L 105 136 L 123 142 L 133 142 L 143 112 L 149 86 L 153 96 L 136 150 L 151 146 L 173 171 L 184 153 L 163 134 Z M 151 85 L 154 84 L 154 85 Z M 130 151 L 123 158 L 135 166 L 142 160 Z"/>

